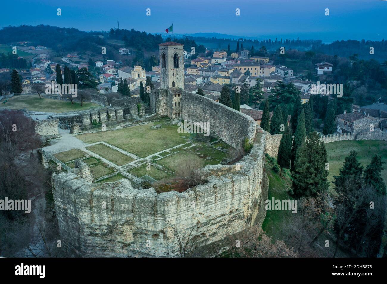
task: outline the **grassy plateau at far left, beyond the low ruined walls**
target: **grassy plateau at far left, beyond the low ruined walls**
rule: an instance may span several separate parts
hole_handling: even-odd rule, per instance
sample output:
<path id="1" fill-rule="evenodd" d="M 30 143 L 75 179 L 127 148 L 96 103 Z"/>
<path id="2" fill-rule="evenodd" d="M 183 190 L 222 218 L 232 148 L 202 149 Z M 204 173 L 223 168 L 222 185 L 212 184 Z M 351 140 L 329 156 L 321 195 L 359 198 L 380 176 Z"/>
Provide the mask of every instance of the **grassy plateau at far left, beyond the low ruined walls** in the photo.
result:
<path id="1" fill-rule="evenodd" d="M 5 104 L 3 102 L 7 100 Z M 80 111 L 85 109 L 96 109 L 101 107 L 98 104 L 91 102 L 84 102 L 82 107 L 80 102 L 66 102 L 63 100 L 54 99 L 39 99 L 38 95 L 16 95 L 10 99 L 4 99 L 0 102 L 0 108 L 5 107 L 7 109 L 28 109 L 29 111 L 39 112 L 69 112 L 69 111 Z"/>

